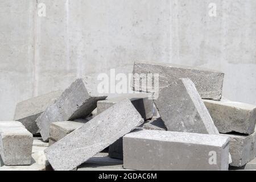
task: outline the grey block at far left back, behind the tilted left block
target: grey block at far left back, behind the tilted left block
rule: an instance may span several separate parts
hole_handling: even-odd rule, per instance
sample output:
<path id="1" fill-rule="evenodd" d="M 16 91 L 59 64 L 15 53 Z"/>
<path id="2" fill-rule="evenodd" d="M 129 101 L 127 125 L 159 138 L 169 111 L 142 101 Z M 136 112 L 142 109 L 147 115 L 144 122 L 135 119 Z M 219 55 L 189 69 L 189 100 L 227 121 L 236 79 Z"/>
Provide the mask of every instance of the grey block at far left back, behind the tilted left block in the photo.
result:
<path id="1" fill-rule="evenodd" d="M 38 125 L 35 122 L 36 119 L 48 106 L 55 103 L 61 93 L 62 91 L 58 90 L 19 102 L 16 105 L 14 120 L 21 122 L 30 133 L 39 133 Z"/>

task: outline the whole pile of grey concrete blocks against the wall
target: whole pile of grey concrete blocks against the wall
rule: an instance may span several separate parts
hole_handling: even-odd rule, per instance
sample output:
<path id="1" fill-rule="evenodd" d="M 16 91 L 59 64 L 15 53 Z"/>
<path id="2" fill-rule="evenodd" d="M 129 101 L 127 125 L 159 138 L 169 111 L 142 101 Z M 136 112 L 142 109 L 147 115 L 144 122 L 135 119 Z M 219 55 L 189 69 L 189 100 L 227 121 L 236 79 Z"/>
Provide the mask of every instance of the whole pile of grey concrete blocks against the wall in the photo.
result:
<path id="1" fill-rule="evenodd" d="M 136 61 L 133 74 L 133 94 L 79 78 L 18 103 L 0 122 L 0 171 L 256 170 L 256 106 L 222 98 L 224 73 Z"/>

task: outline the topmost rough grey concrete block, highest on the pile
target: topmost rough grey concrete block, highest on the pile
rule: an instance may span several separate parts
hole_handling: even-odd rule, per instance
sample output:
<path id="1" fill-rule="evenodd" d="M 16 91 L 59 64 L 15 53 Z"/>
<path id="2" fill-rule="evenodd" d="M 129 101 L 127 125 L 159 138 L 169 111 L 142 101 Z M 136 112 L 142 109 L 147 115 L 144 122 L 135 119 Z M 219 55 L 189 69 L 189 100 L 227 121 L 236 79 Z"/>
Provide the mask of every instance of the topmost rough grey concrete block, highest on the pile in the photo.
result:
<path id="1" fill-rule="evenodd" d="M 179 78 L 190 78 L 196 85 L 201 98 L 220 100 L 222 96 L 222 84 L 224 73 L 212 71 L 203 68 L 191 68 L 182 65 L 174 65 L 167 63 L 153 63 L 149 61 L 136 61 L 134 64 L 133 73 L 138 73 L 142 80 L 148 74 L 159 74 L 159 89 L 165 88 L 168 85 L 174 84 Z M 134 77 L 132 85 L 136 91 L 148 92 L 154 90 L 151 85 L 142 86 L 138 81 L 139 77 Z M 152 79 L 153 84 L 154 79 Z M 156 88 L 155 88 L 156 89 Z"/>

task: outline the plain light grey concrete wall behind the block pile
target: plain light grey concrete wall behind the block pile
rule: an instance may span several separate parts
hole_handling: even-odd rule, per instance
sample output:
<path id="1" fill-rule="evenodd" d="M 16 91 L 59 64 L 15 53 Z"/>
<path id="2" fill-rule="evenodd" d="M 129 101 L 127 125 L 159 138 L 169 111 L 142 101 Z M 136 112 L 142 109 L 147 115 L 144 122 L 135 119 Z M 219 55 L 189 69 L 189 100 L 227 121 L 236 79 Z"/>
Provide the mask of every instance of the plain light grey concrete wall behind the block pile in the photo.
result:
<path id="1" fill-rule="evenodd" d="M 18 101 L 82 75 L 131 72 L 137 59 L 222 71 L 226 98 L 256 104 L 255 0 L 0 0 L 0 7 L 1 120 L 13 119 Z"/>

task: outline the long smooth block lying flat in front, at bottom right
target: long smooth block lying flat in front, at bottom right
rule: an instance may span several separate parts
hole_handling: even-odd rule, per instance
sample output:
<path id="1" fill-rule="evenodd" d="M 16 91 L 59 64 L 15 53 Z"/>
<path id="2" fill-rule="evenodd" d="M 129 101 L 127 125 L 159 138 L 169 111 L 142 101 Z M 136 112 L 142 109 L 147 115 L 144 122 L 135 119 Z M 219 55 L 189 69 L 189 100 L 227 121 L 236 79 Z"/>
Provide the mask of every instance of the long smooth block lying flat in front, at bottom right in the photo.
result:
<path id="1" fill-rule="evenodd" d="M 135 131 L 123 137 L 123 167 L 146 171 L 228 170 L 229 138 L 173 131 Z"/>

